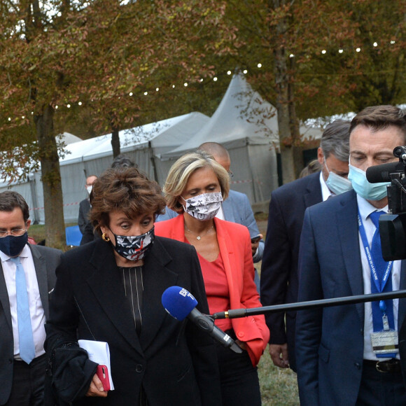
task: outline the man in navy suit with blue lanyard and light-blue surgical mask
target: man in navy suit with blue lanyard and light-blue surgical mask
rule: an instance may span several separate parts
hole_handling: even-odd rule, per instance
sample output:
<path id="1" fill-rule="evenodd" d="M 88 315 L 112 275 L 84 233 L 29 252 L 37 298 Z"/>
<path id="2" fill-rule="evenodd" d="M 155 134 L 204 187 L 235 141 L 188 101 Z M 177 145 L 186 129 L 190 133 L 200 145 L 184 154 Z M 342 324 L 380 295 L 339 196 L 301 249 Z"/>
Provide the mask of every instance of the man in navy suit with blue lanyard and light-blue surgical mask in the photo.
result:
<path id="1" fill-rule="evenodd" d="M 309 207 L 299 255 L 299 301 L 406 288 L 406 261 L 382 258 L 379 216 L 386 185 L 369 183 L 368 167 L 393 162 L 406 144 L 406 118 L 395 106 L 368 107 L 351 121 L 353 190 Z M 302 406 L 406 404 L 398 353 L 405 300 L 297 312 L 297 382 Z"/>

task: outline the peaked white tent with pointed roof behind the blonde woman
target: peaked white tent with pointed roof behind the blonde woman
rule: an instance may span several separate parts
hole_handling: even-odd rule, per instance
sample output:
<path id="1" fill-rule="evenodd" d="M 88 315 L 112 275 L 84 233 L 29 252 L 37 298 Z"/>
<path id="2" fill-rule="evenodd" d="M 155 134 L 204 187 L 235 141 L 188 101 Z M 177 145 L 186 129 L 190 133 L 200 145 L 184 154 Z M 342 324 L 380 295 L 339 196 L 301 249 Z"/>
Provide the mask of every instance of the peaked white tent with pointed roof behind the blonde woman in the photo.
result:
<path id="1" fill-rule="evenodd" d="M 320 137 L 311 127 L 300 127 L 302 137 Z M 279 148 L 277 112 L 243 73 L 232 77 L 218 109 L 202 129 L 178 148 L 161 155 L 167 168 L 187 151 L 204 142 L 218 142 L 230 153 L 231 188 L 248 196 L 251 204 L 269 200 L 278 187 L 276 151 Z"/>

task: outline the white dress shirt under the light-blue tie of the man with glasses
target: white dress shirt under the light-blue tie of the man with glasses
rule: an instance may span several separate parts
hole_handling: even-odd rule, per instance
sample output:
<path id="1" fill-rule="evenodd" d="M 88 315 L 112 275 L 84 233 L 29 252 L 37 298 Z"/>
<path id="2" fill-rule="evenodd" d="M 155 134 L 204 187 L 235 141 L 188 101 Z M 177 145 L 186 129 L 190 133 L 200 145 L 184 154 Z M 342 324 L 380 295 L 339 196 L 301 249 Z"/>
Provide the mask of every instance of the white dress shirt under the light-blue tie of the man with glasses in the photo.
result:
<path id="1" fill-rule="evenodd" d="M 45 313 L 39 295 L 38 281 L 34 267 L 31 250 L 27 244 L 20 253 L 20 261 L 25 272 L 27 283 L 29 313 L 31 315 L 31 328 L 34 337 L 35 356 L 45 353 L 43 342 L 45 341 Z M 11 321 L 13 323 L 14 337 L 14 358 L 20 358 L 20 340 L 18 337 L 17 302 L 15 298 L 15 270 L 17 265 L 9 261 L 10 257 L 0 251 L 1 267 L 3 268 L 4 279 L 6 281 L 8 301 L 10 302 Z"/>

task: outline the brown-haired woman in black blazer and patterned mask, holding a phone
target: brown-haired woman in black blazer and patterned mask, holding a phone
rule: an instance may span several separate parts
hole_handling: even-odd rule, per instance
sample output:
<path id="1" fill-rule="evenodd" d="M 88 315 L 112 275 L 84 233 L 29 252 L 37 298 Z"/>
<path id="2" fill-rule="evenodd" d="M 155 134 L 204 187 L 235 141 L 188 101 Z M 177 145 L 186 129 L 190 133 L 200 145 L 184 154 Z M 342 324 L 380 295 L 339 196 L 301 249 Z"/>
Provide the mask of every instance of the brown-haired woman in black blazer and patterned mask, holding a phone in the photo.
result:
<path id="1" fill-rule="evenodd" d="M 158 184 L 135 168 L 108 169 L 91 199 L 102 239 L 65 253 L 57 269 L 48 393 L 74 405 L 221 405 L 211 337 L 161 304 L 165 289 L 178 285 L 209 313 L 195 248 L 154 235 L 165 207 Z M 104 391 L 77 339 L 109 344 L 113 391 Z"/>

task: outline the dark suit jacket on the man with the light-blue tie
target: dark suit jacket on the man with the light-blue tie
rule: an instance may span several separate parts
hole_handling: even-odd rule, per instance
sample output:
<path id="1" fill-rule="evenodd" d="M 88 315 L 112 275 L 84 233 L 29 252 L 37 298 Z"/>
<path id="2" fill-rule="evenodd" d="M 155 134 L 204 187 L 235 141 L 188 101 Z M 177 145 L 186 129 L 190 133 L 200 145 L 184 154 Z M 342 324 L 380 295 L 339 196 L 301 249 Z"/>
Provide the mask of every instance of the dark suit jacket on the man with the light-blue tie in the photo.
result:
<path id="1" fill-rule="evenodd" d="M 30 245 L 39 295 L 45 318 L 48 318 L 48 296 L 55 286 L 55 269 L 59 265 L 62 251 L 46 246 Z M 10 302 L 3 268 L 0 262 L 0 405 L 4 405 L 10 396 L 13 384 L 14 338 L 11 322 Z"/>

